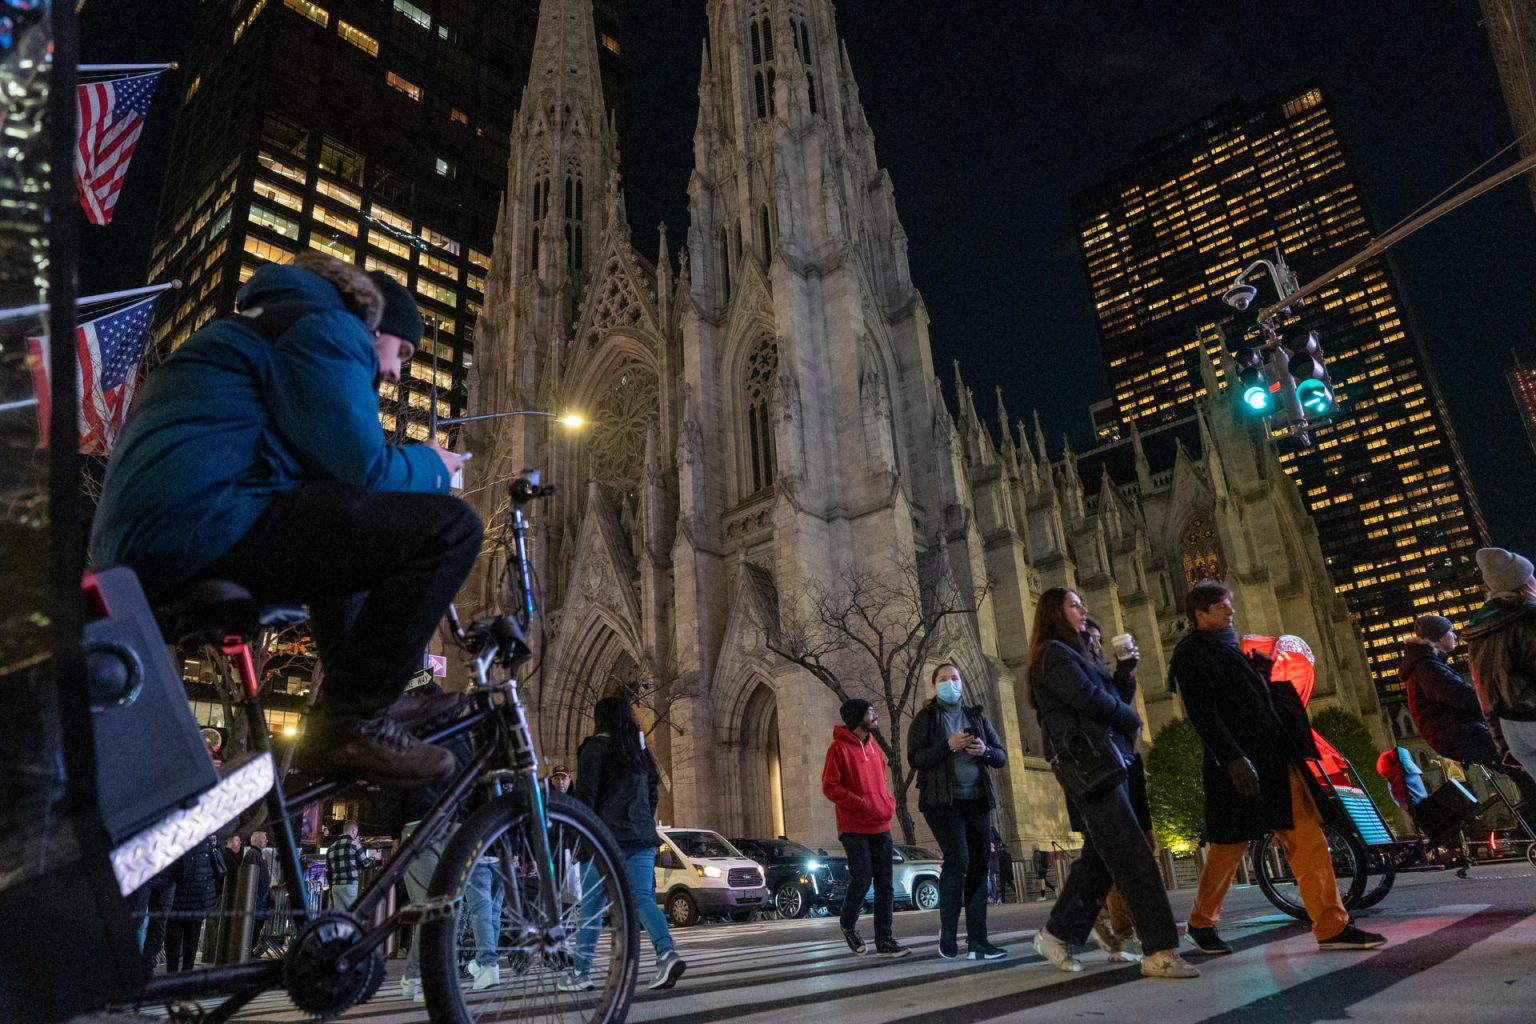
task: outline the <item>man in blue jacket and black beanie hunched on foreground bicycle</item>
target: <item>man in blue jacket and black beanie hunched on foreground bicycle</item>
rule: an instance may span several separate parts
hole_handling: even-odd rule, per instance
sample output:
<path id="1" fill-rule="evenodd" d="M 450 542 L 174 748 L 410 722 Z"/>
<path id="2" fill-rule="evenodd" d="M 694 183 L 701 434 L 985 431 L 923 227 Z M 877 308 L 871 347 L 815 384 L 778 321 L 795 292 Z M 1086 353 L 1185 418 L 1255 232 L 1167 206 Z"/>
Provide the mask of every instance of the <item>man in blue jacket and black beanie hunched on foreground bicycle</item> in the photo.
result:
<path id="1" fill-rule="evenodd" d="M 237 306 L 149 376 L 92 560 L 131 567 L 157 603 L 200 579 L 307 603 L 326 680 L 295 763 L 398 786 L 445 775 L 453 757 L 387 714 L 481 545 L 450 494 L 462 457 L 379 427 L 379 382 L 421 341 L 415 299 L 307 252 L 257 270 Z"/>

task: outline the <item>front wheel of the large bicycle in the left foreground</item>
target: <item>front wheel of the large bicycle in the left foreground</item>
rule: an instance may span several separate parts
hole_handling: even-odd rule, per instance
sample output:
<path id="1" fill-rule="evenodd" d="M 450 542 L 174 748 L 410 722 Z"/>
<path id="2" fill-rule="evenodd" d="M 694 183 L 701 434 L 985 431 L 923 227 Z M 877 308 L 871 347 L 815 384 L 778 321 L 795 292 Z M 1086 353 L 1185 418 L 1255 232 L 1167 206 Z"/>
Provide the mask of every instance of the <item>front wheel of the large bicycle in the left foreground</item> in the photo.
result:
<path id="1" fill-rule="evenodd" d="M 624 857 L 585 804 L 551 794 L 547 811 L 556 921 L 542 909 L 533 815 L 521 797 L 493 800 L 449 840 L 430 895 L 455 910 L 421 927 L 435 1024 L 616 1024 L 628 1013 L 639 929 Z"/>

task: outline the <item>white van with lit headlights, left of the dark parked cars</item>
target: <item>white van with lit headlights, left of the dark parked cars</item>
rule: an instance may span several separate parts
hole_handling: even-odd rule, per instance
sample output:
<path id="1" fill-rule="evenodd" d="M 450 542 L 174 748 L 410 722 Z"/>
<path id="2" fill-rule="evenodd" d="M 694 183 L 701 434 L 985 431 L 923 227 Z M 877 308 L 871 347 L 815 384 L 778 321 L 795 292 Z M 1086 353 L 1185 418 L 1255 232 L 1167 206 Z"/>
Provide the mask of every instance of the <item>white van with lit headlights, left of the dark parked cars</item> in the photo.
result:
<path id="1" fill-rule="evenodd" d="M 745 921 L 763 909 L 768 890 L 762 867 L 742 857 L 719 832 L 708 829 L 657 829 L 656 903 L 677 927 L 700 917 Z"/>

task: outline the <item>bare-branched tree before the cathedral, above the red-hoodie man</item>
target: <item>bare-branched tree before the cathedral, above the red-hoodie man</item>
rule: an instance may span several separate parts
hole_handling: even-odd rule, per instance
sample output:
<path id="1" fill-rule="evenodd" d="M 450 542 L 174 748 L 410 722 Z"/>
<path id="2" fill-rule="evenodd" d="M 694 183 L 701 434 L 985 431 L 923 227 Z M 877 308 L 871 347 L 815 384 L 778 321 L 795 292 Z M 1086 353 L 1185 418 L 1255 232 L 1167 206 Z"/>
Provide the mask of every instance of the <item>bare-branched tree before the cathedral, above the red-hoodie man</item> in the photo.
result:
<path id="1" fill-rule="evenodd" d="M 805 599 L 765 616 L 765 646 L 799 665 L 839 700 L 869 700 L 876 742 L 891 769 L 903 840 L 917 841 L 908 795 L 917 771 L 903 757 L 906 723 L 925 694 L 929 663 L 974 637 L 972 616 L 991 583 L 962 590 L 942 553 L 837 573 L 797 586 Z M 782 591 L 780 591 L 782 593 Z"/>

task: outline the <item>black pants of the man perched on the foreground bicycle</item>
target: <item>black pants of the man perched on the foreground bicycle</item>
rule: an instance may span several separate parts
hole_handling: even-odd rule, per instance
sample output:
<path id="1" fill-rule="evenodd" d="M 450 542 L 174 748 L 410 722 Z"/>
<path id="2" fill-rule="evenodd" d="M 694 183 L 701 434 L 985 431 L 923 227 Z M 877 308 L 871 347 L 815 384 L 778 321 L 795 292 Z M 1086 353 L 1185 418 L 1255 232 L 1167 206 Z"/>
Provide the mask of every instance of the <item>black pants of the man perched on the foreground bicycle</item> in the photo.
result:
<path id="1" fill-rule="evenodd" d="M 338 722 L 406 691 L 479 545 L 479 519 L 458 497 L 319 481 L 278 496 L 200 576 L 309 605 L 326 666 L 318 709 Z"/>

